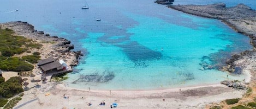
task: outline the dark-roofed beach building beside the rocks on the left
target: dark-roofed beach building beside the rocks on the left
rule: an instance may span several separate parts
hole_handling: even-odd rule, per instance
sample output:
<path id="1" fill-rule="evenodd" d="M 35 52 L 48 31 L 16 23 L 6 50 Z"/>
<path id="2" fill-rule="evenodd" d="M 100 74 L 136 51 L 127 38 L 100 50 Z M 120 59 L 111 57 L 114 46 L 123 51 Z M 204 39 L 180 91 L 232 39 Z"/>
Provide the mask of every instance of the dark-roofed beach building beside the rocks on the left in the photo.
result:
<path id="1" fill-rule="evenodd" d="M 39 60 L 37 65 L 43 70 L 44 73 L 52 73 L 63 70 L 63 65 L 56 61 L 56 59 L 54 59 L 53 57 Z"/>

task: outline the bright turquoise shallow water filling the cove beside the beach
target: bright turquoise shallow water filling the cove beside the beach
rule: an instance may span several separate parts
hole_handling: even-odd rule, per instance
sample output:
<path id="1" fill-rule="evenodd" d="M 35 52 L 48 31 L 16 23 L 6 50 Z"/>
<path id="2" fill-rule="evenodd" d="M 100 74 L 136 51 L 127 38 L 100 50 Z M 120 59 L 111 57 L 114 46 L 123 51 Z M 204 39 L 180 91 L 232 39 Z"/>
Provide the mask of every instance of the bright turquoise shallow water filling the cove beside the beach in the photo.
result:
<path id="1" fill-rule="evenodd" d="M 200 25 L 189 28 L 157 17 L 124 15 L 138 22 L 126 29 L 131 35 L 88 33 L 80 43 L 90 54 L 85 63 L 76 67 L 81 71 L 70 74 L 66 82 L 73 82 L 73 86 L 80 88 L 112 90 L 216 84 L 226 80 L 227 73 L 216 69 L 201 70 L 200 63 L 205 61 L 203 56 L 219 50 L 234 51 L 232 48 L 238 46 L 235 41 L 240 41 L 235 39 L 244 40 L 240 47 L 248 41 L 229 28 L 221 28 L 224 25 L 216 20 L 183 15 Z M 211 65 L 211 61 L 206 61 Z M 113 79 L 109 73 L 114 74 Z M 244 75 L 229 76 L 229 79 L 244 78 Z"/>

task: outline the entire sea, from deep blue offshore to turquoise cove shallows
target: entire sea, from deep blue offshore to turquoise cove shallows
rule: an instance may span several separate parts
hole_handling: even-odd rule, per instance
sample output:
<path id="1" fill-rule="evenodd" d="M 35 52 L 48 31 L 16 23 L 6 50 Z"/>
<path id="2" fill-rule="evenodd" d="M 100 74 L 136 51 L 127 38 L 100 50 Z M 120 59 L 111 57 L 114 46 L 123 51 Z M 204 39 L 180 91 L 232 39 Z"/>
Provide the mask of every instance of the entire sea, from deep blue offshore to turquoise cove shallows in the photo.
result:
<path id="1" fill-rule="evenodd" d="M 86 2 L 90 9 L 82 10 L 82 0 L 2 0 L 0 22 L 27 21 L 37 30 L 71 40 L 86 56 L 64 81 L 70 87 L 164 89 L 245 78 L 240 72 L 218 70 L 232 54 L 252 49 L 248 37 L 221 21 L 184 14 L 152 0 Z M 174 4 L 218 2 L 256 9 L 254 0 Z"/>

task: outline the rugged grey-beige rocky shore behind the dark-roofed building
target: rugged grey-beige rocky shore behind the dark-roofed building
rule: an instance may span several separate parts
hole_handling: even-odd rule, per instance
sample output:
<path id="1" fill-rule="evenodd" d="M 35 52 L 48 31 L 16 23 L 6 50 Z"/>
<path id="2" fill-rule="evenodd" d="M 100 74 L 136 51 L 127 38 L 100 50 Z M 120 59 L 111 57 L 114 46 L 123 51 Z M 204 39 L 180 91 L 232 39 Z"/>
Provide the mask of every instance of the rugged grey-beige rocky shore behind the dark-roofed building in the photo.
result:
<path id="1" fill-rule="evenodd" d="M 41 48 L 41 59 L 53 57 L 63 59 L 69 66 L 76 66 L 79 62 L 79 56 L 82 56 L 81 51 L 70 51 L 74 49 L 74 45 L 70 44 L 71 42 L 69 40 L 44 34 L 44 31 L 34 30 L 34 26 L 27 22 L 7 22 L 0 24 L 0 27 L 2 29 L 8 28 L 14 30 L 15 35 L 24 36 L 40 44 L 47 44 L 47 46 Z"/>

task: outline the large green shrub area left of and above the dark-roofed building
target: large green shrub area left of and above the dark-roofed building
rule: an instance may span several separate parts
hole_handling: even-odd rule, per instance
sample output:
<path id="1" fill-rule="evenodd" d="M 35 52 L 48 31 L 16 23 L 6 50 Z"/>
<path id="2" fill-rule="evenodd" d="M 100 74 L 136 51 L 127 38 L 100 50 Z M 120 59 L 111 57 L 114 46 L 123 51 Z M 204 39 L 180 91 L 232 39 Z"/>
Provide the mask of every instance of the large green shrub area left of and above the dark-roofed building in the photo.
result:
<path id="1" fill-rule="evenodd" d="M 42 44 L 13 34 L 14 31 L 11 29 L 0 29 L 0 69 L 15 72 L 30 71 L 34 68 L 30 63 L 36 63 L 40 59 L 40 53 L 34 52 L 22 58 L 14 55 L 27 52 L 30 48 L 39 49 Z"/>

